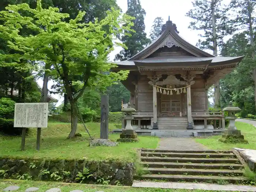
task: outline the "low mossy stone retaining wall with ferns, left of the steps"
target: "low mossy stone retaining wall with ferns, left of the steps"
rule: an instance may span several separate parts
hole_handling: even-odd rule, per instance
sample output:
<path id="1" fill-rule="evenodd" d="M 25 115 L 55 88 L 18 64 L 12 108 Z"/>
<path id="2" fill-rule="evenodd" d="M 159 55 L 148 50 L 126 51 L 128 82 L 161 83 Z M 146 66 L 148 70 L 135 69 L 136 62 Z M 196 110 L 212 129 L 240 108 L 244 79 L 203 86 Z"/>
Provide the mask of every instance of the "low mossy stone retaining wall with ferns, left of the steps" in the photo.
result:
<path id="1" fill-rule="evenodd" d="M 133 163 L 115 161 L 0 158 L 0 178 L 132 185 L 134 172 Z"/>

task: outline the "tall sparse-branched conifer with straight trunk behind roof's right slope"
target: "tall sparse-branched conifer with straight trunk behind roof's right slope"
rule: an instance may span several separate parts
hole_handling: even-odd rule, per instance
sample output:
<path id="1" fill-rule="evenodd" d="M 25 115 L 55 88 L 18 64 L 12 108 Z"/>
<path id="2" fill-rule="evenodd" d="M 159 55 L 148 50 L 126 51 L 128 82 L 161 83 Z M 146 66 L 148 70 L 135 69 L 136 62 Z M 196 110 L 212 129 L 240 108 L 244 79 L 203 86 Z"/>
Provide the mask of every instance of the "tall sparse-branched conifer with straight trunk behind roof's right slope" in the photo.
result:
<path id="1" fill-rule="evenodd" d="M 202 30 L 197 46 L 201 49 L 210 49 L 215 56 L 218 55 L 218 46 L 223 44 L 223 37 L 232 34 L 233 27 L 229 22 L 230 6 L 223 4 L 223 0 L 196 0 L 192 2 L 193 9 L 186 14 L 192 18 L 189 28 Z M 214 108 L 219 107 L 219 82 L 214 85 Z"/>

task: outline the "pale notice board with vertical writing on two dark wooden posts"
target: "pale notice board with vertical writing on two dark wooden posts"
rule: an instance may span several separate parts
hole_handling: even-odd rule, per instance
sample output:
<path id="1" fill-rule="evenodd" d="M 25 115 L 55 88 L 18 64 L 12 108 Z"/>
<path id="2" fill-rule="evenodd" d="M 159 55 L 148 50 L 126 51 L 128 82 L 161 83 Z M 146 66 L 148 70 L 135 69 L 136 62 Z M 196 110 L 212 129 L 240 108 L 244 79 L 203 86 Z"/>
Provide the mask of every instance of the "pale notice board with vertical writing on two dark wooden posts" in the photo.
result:
<path id="1" fill-rule="evenodd" d="M 37 150 L 40 149 L 41 128 L 47 127 L 48 103 L 15 103 L 14 127 L 22 127 L 21 150 L 25 148 L 26 128 L 37 128 Z"/>

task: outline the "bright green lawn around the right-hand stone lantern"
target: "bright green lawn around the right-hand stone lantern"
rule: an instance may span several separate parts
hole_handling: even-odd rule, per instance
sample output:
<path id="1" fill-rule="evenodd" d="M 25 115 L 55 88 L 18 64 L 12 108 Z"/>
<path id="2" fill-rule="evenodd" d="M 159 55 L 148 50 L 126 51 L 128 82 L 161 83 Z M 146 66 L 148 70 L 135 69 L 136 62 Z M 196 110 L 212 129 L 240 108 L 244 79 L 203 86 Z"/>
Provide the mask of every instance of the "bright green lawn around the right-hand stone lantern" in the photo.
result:
<path id="1" fill-rule="evenodd" d="M 231 144 L 231 143 L 222 143 L 219 142 L 218 139 L 221 136 L 211 136 L 209 138 L 197 138 L 196 142 L 202 143 L 210 149 L 216 150 L 230 150 L 232 148 L 247 148 L 247 149 L 256 149 L 256 127 L 253 125 L 236 122 L 237 129 L 241 130 L 242 135 L 244 135 L 245 140 L 248 140 L 249 144 Z"/>

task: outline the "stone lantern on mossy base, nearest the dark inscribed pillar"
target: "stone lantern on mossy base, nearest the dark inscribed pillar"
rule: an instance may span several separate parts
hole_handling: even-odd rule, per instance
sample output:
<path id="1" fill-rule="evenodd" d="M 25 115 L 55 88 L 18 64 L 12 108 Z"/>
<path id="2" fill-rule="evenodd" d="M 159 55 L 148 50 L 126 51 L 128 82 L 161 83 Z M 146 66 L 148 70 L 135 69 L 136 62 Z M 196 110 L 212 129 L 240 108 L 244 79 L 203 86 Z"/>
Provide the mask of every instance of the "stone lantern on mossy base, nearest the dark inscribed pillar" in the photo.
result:
<path id="1" fill-rule="evenodd" d="M 121 109 L 122 112 L 125 112 L 127 115 L 124 117 L 126 120 L 125 129 L 123 129 L 122 133 L 120 134 L 120 139 L 117 139 L 117 142 L 137 142 L 139 139 L 137 138 L 137 133 L 132 128 L 132 113 L 136 112 L 135 109 L 131 107 L 131 103 L 128 103 L 127 108 Z"/>

